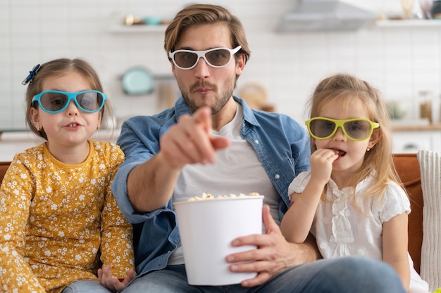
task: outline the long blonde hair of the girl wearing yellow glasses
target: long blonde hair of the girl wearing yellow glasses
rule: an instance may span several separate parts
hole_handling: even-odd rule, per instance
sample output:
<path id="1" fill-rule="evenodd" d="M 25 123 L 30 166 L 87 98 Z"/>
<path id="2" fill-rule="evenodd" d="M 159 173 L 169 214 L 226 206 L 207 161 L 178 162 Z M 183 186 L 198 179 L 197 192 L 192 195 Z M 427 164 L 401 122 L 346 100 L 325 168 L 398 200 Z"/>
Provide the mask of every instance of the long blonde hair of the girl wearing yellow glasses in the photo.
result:
<path id="1" fill-rule="evenodd" d="M 383 199 L 389 181 L 402 185 L 392 158 L 392 130 L 387 105 L 380 92 L 364 80 L 352 75 L 334 74 L 323 79 L 316 86 L 308 102 L 310 117 L 318 117 L 328 103 L 338 103 L 343 109 L 350 109 L 354 99 L 359 99 L 364 104 L 369 115 L 368 119 L 380 124 L 378 129 L 374 129 L 380 131 L 380 138 L 364 155 L 364 164 L 353 175 L 350 185 L 356 186 L 372 174 L 373 184 L 366 190 L 364 196 L 373 196 L 376 202 Z M 316 149 L 311 138 L 311 152 Z M 322 200 L 325 200 L 325 193 L 326 190 L 323 192 Z M 355 204 L 355 190 L 352 195 Z"/>

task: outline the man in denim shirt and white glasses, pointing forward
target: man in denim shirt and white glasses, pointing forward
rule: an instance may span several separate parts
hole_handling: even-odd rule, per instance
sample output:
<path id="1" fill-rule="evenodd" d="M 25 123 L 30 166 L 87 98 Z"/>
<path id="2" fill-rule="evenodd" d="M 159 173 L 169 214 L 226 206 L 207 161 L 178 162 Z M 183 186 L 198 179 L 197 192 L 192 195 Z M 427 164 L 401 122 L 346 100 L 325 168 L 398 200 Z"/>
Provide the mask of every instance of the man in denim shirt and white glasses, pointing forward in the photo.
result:
<path id="1" fill-rule="evenodd" d="M 164 47 L 182 97 L 158 115 L 128 119 L 118 138 L 126 161 L 113 193 L 134 226 L 138 273 L 123 292 L 404 292 L 381 262 L 315 261 L 314 240 L 282 237 L 288 185 L 309 169 L 309 136 L 290 117 L 232 96 L 250 53 L 240 21 L 220 6 L 188 6 L 168 26 Z M 231 271 L 255 278 L 225 288 L 187 283 L 173 202 L 203 192 L 265 195 L 266 233 L 232 241 L 258 248 L 226 256 Z"/>

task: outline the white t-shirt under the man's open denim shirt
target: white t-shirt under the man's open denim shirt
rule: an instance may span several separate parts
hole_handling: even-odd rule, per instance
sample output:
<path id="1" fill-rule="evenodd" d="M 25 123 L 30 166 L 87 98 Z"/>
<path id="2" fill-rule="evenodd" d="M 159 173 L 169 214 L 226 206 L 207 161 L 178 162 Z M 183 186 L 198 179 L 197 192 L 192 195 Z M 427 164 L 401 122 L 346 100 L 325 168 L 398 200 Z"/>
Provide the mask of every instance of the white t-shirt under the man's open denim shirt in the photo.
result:
<path id="1" fill-rule="evenodd" d="M 228 148 L 216 152 L 215 164 L 189 164 L 182 169 L 173 193 L 173 202 L 182 202 L 202 193 L 229 195 L 234 193 L 259 193 L 264 195 L 263 204 L 268 204 L 271 215 L 280 224 L 278 210 L 280 195 L 271 183 L 254 148 L 241 136 L 243 122 L 242 106 L 237 103 L 236 115 L 213 136 L 230 139 Z M 263 227 L 263 226 L 262 226 Z M 265 233 L 263 227 L 262 233 Z M 182 247 L 173 252 L 168 264 L 184 263 Z"/>

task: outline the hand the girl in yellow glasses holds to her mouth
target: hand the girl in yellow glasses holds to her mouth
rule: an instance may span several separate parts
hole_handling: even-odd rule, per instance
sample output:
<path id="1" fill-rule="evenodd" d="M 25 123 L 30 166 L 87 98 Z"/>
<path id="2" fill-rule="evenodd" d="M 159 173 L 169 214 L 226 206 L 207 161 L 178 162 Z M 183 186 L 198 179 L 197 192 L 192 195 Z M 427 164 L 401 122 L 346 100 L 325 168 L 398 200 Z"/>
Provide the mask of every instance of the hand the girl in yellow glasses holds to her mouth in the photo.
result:
<path id="1" fill-rule="evenodd" d="M 320 181 L 324 184 L 330 179 L 333 171 L 333 162 L 338 158 L 334 150 L 319 148 L 312 153 L 311 161 L 311 180 Z"/>

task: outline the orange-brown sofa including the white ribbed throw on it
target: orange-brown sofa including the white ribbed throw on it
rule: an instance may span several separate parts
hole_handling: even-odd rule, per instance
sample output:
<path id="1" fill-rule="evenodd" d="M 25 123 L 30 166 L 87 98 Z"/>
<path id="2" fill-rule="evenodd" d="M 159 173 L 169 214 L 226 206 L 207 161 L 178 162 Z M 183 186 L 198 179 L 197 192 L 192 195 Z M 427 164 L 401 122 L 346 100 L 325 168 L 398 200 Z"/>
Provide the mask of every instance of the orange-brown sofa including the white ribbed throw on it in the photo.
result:
<path id="1" fill-rule="evenodd" d="M 411 201 L 409 253 L 416 271 L 428 281 L 431 290 L 441 287 L 440 156 L 441 153 L 431 151 L 394 154 L 395 168 Z M 0 182 L 9 164 L 10 162 L 0 162 Z M 425 200 L 430 201 L 430 204 L 425 205 Z M 428 211 L 429 208 L 431 210 Z"/>

